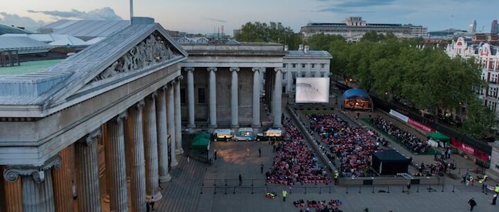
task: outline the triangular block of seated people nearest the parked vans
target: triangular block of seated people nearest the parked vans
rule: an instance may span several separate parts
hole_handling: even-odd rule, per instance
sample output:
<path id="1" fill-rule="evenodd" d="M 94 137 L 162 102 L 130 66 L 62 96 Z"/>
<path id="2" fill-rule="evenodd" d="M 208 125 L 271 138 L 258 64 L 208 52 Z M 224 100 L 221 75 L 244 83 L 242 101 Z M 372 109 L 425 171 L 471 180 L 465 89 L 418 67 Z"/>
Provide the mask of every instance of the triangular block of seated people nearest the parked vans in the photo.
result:
<path id="1" fill-rule="evenodd" d="M 265 173 L 272 184 L 329 183 L 326 169 L 322 167 L 304 138 L 288 117 L 283 119 L 283 142 L 277 146 L 276 156 Z"/>

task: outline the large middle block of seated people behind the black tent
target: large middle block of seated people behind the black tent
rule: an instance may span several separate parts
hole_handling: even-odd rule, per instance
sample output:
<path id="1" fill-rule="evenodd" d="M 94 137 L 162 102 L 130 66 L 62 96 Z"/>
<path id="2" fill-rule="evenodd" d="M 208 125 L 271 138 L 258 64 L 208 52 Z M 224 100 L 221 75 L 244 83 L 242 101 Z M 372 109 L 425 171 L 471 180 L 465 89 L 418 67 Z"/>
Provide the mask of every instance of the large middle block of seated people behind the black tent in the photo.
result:
<path id="1" fill-rule="evenodd" d="M 340 171 L 343 176 L 371 175 L 369 168 L 371 154 L 380 148 L 373 142 L 371 135 L 361 128 L 350 126 L 335 114 L 308 115 L 308 119 L 310 128 L 319 133 L 322 142 L 340 160 Z"/>

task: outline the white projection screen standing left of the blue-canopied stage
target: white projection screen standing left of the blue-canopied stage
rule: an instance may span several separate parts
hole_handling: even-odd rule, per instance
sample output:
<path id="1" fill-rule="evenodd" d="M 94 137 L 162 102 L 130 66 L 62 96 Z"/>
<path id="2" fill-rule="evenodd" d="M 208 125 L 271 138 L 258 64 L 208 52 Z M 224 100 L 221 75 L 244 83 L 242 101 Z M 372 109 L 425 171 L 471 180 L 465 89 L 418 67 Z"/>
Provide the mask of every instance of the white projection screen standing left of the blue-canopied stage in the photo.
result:
<path id="1" fill-rule="evenodd" d="M 329 103 L 329 77 L 297 77 L 296 103 Z"/>

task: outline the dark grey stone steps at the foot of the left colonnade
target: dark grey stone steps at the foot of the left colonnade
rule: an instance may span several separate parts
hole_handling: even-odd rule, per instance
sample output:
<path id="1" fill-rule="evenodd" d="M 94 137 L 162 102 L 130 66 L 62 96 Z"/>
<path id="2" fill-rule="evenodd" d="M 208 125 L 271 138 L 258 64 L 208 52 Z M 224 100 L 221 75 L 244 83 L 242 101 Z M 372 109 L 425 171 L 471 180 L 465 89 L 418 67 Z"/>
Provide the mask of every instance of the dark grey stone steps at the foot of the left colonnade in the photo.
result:
<path id="1" fill-rule="evenodd" d="M 155 211 L 196 211 L 200 199 L 201 184 L 207 164 L 178 156 L 178 166 L 172 168 L 172 180 L 161 184 L 163 197 L 155 205 Z"/>

